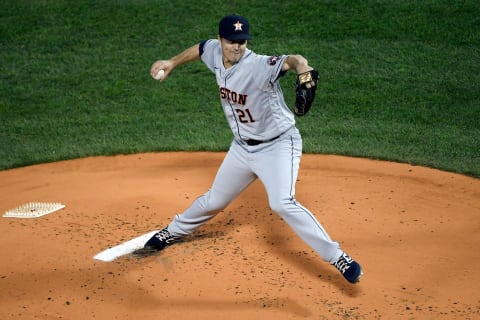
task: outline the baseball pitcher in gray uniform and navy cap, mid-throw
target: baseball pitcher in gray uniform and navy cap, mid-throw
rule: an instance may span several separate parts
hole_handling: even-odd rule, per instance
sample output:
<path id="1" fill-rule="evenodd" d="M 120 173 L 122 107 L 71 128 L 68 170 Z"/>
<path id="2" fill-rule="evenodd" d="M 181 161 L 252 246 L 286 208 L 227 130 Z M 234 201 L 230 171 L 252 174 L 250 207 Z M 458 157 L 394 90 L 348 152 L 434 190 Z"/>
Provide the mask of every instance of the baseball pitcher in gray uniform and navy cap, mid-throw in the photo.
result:
<path id="1" fill-rule="evenodd" d="M 302 156 L 302 138 L 295 127 L 295 116 L 304 116 L 310 110 L 319 74 L 301 55 L 256 54 L 247 48 L 251 39 L 248 20 L 228 15 L 221 19 L 216 39 L 202 41 L 152 65 L 152 77 L 165 81 L 176 67 L 201 60 L 215 75 L 233 141 L 211 188 L 135 254 L 160 251 L 191 234 L 258 178 L 265 186 L 271 209 L 323 260 L 335 266 L 346 280 L 356 283 L 362 275 L 360 264 L 295 199 Z M 293 112 L 285 103 L 279 83 L 288 71 L 297 74 Z"/>

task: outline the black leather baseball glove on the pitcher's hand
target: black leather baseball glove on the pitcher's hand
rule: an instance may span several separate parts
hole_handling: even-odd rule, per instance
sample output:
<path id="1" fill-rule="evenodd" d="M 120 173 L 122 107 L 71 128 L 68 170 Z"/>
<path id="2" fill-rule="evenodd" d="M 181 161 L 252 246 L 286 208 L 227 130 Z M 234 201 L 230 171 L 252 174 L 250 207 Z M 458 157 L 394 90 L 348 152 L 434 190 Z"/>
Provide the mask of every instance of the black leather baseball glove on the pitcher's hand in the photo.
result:
<path id="1" fill-rule="evenodd" d="M 295 108 L 294 113 L 297 116 L 304 116 L 312 106 L 317 90 L 318 71 L 310 71 L 297 75 L 295 81 Z"/>

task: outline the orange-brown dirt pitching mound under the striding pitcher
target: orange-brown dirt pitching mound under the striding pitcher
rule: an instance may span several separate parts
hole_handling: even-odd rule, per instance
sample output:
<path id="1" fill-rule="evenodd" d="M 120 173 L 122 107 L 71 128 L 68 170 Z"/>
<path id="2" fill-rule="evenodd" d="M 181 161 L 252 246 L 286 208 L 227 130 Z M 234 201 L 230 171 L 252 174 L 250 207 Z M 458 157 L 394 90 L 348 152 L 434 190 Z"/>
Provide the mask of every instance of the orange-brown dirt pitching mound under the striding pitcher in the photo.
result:
<path id="1" fill-rule="evenodd" d="M 0 171 L 0 319 L 479 319 L 480 180 L 304 155 L 297 200 L 364 268 L 357 285 L 268 207 L 258 181 L 155 257 L 92 257 L 167 224 L 223 153 L 95 157 Z"/>

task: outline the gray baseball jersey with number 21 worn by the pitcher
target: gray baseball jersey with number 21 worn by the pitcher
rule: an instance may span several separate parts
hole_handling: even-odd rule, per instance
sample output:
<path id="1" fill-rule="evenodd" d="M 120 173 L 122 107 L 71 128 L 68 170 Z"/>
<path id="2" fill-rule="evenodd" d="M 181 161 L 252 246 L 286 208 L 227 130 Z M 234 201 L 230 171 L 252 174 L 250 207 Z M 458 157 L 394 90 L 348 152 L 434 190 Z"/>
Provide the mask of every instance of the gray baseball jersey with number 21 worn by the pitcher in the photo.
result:
<path id="1" fill-rule="evenodd" d="M 201 59 L 215 73 L 221 104 L 236 138 L 270 140 L 295 125 L 278 82 L 286 55 L 258 55 L 246 49 L 238 63 L 225 69 L 218 40 L 201 46 Z"/>

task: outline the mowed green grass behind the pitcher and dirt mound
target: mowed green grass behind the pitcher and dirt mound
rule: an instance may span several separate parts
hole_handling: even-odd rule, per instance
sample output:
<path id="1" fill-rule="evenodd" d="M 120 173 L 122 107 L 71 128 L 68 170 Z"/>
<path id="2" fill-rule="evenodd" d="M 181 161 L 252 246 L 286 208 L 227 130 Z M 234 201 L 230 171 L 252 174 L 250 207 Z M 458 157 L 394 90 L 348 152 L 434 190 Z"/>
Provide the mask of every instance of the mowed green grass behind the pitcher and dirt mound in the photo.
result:
<path id="1" fill-rule="evenodd" d="M 0 169 L 89 155 L 226 150 L 232 135 L 200 62 L 162 84 L 151 64 L 251 22 L 249 47 L 321 73 L 297 125 L 307 153 L 480 177 L 478 1 L 0 2 Z M 282 80 L 290 105 L 294 75 Z"/>

